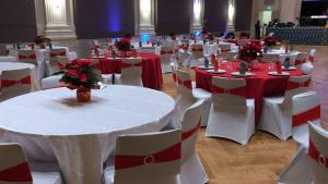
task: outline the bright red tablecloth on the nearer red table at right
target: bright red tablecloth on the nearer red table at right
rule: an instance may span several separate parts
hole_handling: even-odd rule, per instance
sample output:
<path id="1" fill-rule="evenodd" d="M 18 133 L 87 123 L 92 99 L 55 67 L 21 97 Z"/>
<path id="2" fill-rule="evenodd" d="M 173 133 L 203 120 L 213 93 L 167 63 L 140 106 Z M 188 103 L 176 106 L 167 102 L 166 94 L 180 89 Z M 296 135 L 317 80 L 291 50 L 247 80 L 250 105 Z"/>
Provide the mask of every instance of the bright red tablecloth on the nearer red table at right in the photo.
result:
<path id="1" fill-rule="evenodd" d="M 231 72 L 238 70 L 238 63 L 233 63 L 231 65 Z M 227 69 L 227 63 L 222 64 L 222 69 Z M 195 69 L 196 70 L 196 86 L 198 88 L 203 88 L 208 91 L 211 91 L 212 76 L 222 76 L 229 78 L 235 78 L 230 73 L 225 74 L 212 74 L 206 70 Z M 247 84 L 247 98 L 255 99 L 255 120 L 259 121 L 262 108 L 262 98 L 263 97 L 273 97 L 284 95 L 289 76 L 271 76 L 268 74 L 268 64 L 267 63 L 255 63 L 254 70 L 250 71 L 255 76 L 243 77 L 246 79 Z M 292 76 L 303 75 L 301 70 L 295 71 L 285 71 L 289 72 Z"/>

